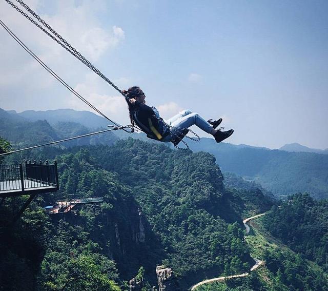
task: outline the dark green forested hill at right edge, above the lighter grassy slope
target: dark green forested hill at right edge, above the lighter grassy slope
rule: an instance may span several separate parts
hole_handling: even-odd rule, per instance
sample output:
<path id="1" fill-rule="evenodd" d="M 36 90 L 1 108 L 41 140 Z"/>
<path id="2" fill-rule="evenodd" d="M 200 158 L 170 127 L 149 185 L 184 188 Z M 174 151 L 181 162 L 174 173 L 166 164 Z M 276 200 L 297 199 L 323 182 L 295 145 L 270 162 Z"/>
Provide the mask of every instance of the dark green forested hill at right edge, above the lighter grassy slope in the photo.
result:
<path id="1" fill-rule="evenodd" d="M 264 218 L 265 227 L 295 252 L 328 271 L 328 200 L 298 193 Z"/>

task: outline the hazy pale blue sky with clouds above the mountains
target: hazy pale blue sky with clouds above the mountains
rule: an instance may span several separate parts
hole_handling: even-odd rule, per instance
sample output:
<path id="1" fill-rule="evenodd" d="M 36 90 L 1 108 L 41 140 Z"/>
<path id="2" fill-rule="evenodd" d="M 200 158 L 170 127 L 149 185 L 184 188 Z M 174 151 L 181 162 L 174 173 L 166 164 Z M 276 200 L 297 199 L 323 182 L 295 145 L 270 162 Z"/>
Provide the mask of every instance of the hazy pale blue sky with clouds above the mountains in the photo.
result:
<path id="1" fill-rule="evenodd" d="M 120 88 L 144 89 L 164 118 L 188 108 L 223 117 L 234 144 L 328 147 L 326 0 L 26 3 Z M 112 87 L 5 1 L 0 18 L 92 104 L 129 122 Z M 89 110 L 2 27 L 0 40 L 1 108 Z"/>

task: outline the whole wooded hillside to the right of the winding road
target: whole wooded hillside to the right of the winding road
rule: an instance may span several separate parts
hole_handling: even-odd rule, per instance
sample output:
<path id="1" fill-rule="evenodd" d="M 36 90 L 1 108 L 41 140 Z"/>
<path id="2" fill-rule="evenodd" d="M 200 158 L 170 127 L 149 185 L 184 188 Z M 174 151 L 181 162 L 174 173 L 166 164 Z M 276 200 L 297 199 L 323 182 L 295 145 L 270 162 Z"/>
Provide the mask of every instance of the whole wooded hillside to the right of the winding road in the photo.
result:
<path id="1" fill-rule="evenodd" d="M 246 238 L 264 266 L 248 277 L 202 285 L 197 291 L 328 290 L 327 209 L 326 200 L 315 201 L 306 193 L 274 205 L 252 223 Z"/>

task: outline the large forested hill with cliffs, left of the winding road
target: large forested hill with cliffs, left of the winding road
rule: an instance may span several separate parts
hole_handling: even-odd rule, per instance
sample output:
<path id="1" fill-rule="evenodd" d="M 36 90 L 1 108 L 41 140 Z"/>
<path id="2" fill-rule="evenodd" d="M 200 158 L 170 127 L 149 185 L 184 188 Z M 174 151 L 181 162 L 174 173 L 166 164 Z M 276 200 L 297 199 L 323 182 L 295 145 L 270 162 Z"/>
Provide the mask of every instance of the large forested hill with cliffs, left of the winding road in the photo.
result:
<path id="1" fill-rule="evenodd" d="M 53 154 L 49 150 L 48 158 Z M 12 156 L 13 162 L 15 157 L 19 156 Z M 253 265 L 243 242 L 239 211 L 268 210 L 273 203 L 259 193 L 249 203 L 249 196 L 238 198 L 237 193 L 226 190 L 210 154 L 129 139 L 113 146 L 61 150 L 56 159 L 60 191 L 39 197 L 14 235 L 3 232 L 0 254 L 6 264 L 0 273 L 7 278 L 6 284 L 23 286 L 17 273 L 8 273 L 19 263 L 31 269 L 26 276 L 34 278 L 23 276 L 30 282 L 26 287 L 36 284 L 55 290 L 49 286 L 63 286 L 74 266 L 81 268 L 84 256 L 90 264 L 110 264 L 108 278 L 122 290 L 124 281 L 134 277 L 140 266 L 145 268 L 145 280 L 155 285 L 155 266 L 170 265 L 185 290 L 191 282 L 222 272 L 234 274 Z M 99 196 L 104 197 L 103 204 L 83 206 L 76 215 L 47 217 L 39 208 L 57 199 Z M 22 199 L 5 201 L 3 222 L 10 219 L 17 203 Z M 247 205 L 251 207 L 246 209 Z M 22 248 L 25 244 L 29 248 Z M 30 248 L 39 255 L 33 258 Z"/>

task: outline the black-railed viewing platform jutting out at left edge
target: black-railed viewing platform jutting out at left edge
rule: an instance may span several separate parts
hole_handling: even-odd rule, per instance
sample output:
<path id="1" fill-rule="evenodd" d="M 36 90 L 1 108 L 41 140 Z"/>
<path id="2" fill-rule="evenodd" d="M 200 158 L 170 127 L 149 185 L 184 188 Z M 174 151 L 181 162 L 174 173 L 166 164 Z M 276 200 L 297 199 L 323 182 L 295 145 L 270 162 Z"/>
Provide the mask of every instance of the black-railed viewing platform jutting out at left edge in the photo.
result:
<path id="1" fill-rule="evenodd" d="M 0 198 L 36 195 L 59 189 L 57 163 L 0 165 Z"/>

